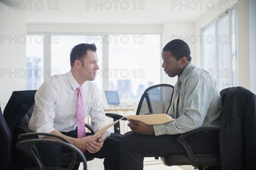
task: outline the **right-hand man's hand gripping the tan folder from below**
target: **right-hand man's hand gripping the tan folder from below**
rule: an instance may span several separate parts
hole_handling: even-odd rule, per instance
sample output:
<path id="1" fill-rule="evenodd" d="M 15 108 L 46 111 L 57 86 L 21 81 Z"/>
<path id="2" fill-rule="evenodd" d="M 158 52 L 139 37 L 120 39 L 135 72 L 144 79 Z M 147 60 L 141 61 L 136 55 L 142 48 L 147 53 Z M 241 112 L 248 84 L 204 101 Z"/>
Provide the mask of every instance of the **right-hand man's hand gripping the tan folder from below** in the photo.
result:
<path id="1" fill-rule="evenodd" d="M 143 134 L 143 135 L 154 135 L 153 126 L 146 125 L 145 123 L 139 120 L 128 119 L 128 126 L 134 133 Z"/>

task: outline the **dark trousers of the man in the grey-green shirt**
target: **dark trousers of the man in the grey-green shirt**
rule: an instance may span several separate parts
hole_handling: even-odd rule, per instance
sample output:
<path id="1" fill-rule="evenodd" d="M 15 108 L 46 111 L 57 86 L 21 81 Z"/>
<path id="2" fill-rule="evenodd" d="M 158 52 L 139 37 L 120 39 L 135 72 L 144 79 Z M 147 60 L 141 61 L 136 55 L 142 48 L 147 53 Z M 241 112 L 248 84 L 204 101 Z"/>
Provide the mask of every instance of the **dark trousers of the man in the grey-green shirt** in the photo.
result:
<path id="1" fill-rule="evenodd" d="M 144 157 L 162 157 L 172 153 L 186 153 L 177 135 L 149 136 L 127 133 L 120 144 L 120 169 L 143 170 Z M 218 132 L 198 132 L 185 140 L 194 153 L 219 153 Z"/>

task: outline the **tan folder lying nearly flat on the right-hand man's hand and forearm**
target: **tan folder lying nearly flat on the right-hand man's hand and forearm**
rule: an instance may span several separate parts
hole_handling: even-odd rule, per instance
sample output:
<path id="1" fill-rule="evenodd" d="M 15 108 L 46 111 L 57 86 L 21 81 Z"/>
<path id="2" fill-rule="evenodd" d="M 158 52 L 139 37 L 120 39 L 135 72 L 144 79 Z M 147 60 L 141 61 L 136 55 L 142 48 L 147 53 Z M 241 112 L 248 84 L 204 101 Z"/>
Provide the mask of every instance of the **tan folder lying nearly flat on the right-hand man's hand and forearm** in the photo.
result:
<path id="1" fill-rule="evenodd" d="M 172 122 L 171 116 L 167 114 L 144 114 L 144 115 L 128 115 L 128 119 L 139 120 L 147 125 L 160 125 L 168 122 Z"/>

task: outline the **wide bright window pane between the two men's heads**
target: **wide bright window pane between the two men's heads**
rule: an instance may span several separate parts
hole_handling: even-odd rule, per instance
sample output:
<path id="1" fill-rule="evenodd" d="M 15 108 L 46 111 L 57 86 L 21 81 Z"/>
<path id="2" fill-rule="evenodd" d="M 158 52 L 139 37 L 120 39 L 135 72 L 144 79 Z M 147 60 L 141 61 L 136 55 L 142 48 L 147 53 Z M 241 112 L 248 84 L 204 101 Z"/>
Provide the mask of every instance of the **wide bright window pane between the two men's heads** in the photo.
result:
<path id="1" fill-rule="evenodd" d="M 146 88 L 160 83 L 160 35 L 119 37 L 109 44 L 109 90 L 121 102 L 139 101 Z"/>

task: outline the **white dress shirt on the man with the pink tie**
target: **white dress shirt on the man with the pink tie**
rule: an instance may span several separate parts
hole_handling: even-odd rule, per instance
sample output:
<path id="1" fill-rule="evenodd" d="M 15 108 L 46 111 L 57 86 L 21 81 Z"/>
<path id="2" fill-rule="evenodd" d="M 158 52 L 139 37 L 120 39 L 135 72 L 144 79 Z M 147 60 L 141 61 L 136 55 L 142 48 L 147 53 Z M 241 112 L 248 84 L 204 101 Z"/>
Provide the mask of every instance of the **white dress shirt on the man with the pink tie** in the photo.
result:
<path id="1" fill-rule="evenodd" d="M 45 81 L 35 93 L 35 108 L 29 121 L 29 129 L 44 133 L 50 133 L 53 130 L 60 132 L 75 130 L 78 98 L 76 89 L 79 86 L 71 71 Z M 86 81 L 81 86 L 84 117 L 90 115 L 91 125 L 96 131 L 107 125 L 99 91 L 92 81 Z"/>

